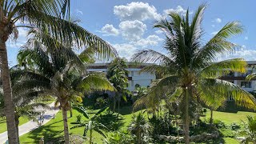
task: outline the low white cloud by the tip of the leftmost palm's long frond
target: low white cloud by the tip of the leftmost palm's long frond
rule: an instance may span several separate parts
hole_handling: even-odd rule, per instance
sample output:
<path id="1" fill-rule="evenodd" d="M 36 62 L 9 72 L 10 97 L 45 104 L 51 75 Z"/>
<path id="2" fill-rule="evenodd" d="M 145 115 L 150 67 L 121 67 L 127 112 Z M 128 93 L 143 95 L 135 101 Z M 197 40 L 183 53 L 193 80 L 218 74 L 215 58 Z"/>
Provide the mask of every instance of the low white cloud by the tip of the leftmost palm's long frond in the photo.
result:
<path id="1" fill-rule="evenodd" d="M 134 45 L 131 44 L 114 44 L 112 45 L 115 50 L 118 51 L 118 54 L 121 58 L 126 58 L 126 59 L 130 59 L 131 56 L 134 54 L 136 47 L 134 47 Z"/>

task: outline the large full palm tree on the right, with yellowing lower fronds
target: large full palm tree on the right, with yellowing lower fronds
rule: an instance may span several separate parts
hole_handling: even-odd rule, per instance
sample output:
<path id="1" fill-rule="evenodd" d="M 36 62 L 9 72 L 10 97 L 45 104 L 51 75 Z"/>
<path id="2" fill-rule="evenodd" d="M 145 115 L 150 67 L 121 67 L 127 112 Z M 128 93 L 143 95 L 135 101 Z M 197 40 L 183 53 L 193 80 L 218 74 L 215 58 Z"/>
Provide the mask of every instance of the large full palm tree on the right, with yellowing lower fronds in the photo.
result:
<path id="1" fill-rule="evenodd" d="M 242 26 L 238 22 L 229 22 L 209 42 L 202 39 L 202 15 L 205 5 L 198 7 L 190 21 L 189 10 L 186 15 L 170 12 L 170 20 L 162 19 L 155 23 L 166 35 L 164 49 L 166 54 L 155 50 L 140 50 L 134 54 L 134 62 L 154 62 L 146 66 L 143 71 L 162 74 L 163 78 L 156 84 L 157 90 L 180 89 L 179 110 L 182 111 L 185 142 L 190 142 L 190 108 L 192 103 L 205 102 L 206 105 L 214 103 L 216 97 L 232 96 L 240 106 L 255 109 L 255 98 L 231 82 L 226 82 L 220 77 L 231 71 L 244 73 L 246 62 L 241 58 L 214 62 L 221 54 L 226 54 L 238 47 L 228 38 L 242 33 Z"/>

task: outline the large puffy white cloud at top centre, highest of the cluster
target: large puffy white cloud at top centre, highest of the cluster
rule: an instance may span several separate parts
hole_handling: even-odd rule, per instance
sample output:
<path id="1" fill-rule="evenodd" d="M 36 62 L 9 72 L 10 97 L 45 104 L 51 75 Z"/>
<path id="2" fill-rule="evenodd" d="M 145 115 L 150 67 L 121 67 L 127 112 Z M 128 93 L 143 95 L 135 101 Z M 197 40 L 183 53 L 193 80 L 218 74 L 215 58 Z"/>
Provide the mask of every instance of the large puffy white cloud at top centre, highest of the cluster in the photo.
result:
<path id="1" fill-rule="evenodd" d="M 160 14 L 154 6 L 144 2 L 130 2 L 126 6 L 114 6 L 114 14 L 121 20 L 139 20 L 158 19 Z"/>

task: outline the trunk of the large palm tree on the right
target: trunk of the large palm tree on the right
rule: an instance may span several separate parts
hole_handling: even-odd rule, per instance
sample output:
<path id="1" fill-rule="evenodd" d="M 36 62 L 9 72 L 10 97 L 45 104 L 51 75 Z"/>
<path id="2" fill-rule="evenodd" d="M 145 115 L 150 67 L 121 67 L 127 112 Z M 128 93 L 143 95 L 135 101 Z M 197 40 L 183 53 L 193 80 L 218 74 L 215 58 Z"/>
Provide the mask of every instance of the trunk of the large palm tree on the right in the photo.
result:
<path id="1" fill-rule="evenodd" d="M 189 90 L 186 88 L 186 102 L 185 102 L 185 118 L 183 122 L 183 129 L 184 129 L 184 134 L 185 134 L 185 143 L 189 144 L 190 143 L 190 115 L 189 115 Z"/>

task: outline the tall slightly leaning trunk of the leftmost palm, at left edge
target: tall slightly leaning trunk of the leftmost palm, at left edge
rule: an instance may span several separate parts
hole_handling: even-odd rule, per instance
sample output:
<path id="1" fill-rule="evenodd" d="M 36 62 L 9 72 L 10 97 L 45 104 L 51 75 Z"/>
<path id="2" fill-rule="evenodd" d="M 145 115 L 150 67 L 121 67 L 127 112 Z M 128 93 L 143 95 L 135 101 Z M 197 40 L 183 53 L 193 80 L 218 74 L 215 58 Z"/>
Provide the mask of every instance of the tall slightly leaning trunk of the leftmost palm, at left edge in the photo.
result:
<path id="1" fill-rule="evenodd" d="M 5 114 L 7 123 L 7 134 L 10 144 L 18 143 L 17 130 L 15 126 L 14 118 L 14 102 L 12 100 L 11 86 L 10 86 L 10 74 L 8 67 L 8 58 L 6 50 L 6 41 L 9 34 L 6 33 L 6 24 L 3 22 L 3 11 L 2 6 L 0 6 L 0 58 L 1 58 L 1 76 L 2 76 L 2 88 L 5 102 Z M 2 27 L 5 26 L 5 27 Z"/>

